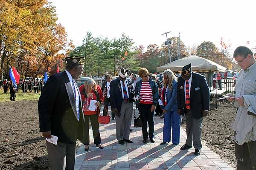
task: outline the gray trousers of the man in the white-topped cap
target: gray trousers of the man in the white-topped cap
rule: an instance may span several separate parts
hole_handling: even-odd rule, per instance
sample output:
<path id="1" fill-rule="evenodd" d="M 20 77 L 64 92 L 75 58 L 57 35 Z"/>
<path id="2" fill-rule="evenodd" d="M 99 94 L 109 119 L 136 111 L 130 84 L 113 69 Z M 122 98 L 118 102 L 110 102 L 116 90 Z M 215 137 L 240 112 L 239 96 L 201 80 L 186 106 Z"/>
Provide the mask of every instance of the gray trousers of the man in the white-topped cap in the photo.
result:
<path id="1" fill-rule="evenodd" d="M 121 116 L 116 116 L 116 139 L 129 139 L 133 103 L 122 101 Z"/>

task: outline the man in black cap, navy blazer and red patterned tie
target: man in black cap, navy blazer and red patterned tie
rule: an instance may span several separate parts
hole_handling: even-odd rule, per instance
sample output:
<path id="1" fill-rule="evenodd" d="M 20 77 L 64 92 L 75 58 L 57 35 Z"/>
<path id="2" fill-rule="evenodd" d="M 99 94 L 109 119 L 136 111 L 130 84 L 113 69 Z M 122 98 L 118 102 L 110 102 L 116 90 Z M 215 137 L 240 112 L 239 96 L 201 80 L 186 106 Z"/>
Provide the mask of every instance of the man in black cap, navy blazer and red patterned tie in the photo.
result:
<path id="1" fill-rule="evenodd" d="M 210 94 L 206 79 L 201 74 L 191 71 L 191 63 L 182 68 L 178 78 L 177 103 L 178 113 L 186 116 L 186 144 L 180 150 L 195 148 L 195 155 L 201 153 L 201 132 L 203 117 L 209 111 Z"/>

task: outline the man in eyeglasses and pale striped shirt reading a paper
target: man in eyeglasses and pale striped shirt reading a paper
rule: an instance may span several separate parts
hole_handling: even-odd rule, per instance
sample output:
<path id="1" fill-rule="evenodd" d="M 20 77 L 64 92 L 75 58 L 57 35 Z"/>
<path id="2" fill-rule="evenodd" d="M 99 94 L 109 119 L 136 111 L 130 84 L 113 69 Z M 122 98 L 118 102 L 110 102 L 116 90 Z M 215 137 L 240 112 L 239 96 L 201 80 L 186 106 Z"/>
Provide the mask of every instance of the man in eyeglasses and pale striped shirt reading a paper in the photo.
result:
<path id="1" fill-rule="evenodd" d="M 227 94 L 237 108 L 232 124 L 236 166 L 237 170 L 256 170 L 256 59 L 244 46 L 236 48 L 233 58 L 242 68 L 236 79 L 236 94 Z"/>

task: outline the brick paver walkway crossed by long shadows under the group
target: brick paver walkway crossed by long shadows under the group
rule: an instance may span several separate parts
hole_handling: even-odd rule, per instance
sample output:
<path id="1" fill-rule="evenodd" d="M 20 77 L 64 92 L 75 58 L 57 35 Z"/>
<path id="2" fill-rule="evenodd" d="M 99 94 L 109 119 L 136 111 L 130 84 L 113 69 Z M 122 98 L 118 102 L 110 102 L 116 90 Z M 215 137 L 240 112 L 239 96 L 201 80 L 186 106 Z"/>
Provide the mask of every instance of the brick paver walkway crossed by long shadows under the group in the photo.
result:
<path id="1" fill-rule="evenodd" d="M 194 148 L 180 150 L 186 141 L 186 131 L 180 131 L 180 144 L 160 145 L 163 140 L 163 119 L 155 116 L 155 143 L 143 143 L 141 128 L 132 127 L 130 139 L 134 143 L 118 144 L 115 120 L 100 126 L 104 149 L 96 148 L 90 130 L 90 148 L 84 151 L 80 145 L 76 153 L 76 170 L 233 170 L 215 153 L 203 146 L 200 156 L 194 155 Z"/>

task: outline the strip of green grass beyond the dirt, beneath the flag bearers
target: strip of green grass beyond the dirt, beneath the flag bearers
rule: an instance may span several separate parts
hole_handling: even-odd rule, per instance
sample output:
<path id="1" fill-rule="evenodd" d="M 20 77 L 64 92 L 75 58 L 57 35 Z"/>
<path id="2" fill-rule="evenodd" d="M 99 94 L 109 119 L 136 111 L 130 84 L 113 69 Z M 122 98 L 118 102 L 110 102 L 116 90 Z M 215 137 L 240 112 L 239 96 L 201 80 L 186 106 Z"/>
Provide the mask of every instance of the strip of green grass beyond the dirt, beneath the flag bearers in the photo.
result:
<path id="1" fill-rule="evenodd" d="M 41 92 L 39 91 L 38 94 L 26 92 L 22 93 L 20 89 L 18 93 L 16 93 L 15 100 L 22 101 L 22 100 L 38 100 Z M 8 94 L 3 94 L 3 89 L 0 89 L 0 102 L 10 102 L 10 89 L 8 89 Z"/>

